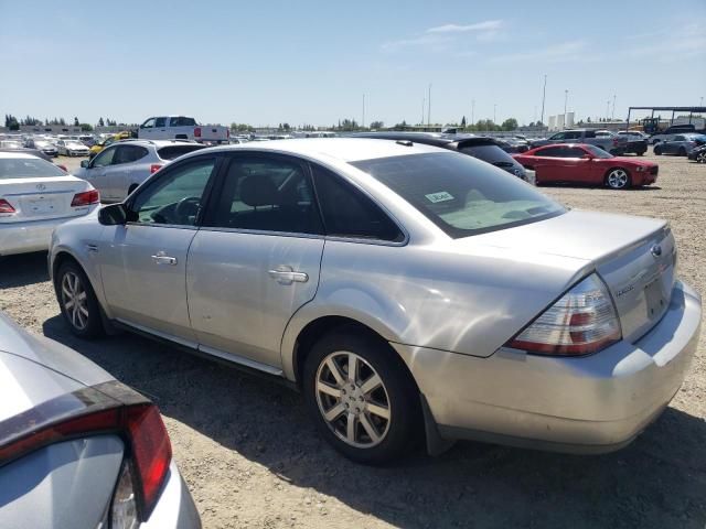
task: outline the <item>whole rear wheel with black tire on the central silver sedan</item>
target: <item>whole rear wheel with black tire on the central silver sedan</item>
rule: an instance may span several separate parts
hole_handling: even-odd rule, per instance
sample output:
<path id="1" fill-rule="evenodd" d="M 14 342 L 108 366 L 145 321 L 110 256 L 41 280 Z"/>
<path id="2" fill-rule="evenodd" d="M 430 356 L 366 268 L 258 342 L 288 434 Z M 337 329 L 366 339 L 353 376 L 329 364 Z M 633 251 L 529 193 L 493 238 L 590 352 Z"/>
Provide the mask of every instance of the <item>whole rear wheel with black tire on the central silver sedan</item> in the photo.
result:
<path id="1" fill-rule="evenodd" d="M 347 375 L 351 358 L 355 381 Z M 374 380 L 378 384 L 370 389 Z M 345 326 L 319 339 L 307 356 L 302 381 L 317 428 L 350 460 L 391 463 L 419 439 L 421 413 L 411 376 L 385 342 L 360 327 Z"/>

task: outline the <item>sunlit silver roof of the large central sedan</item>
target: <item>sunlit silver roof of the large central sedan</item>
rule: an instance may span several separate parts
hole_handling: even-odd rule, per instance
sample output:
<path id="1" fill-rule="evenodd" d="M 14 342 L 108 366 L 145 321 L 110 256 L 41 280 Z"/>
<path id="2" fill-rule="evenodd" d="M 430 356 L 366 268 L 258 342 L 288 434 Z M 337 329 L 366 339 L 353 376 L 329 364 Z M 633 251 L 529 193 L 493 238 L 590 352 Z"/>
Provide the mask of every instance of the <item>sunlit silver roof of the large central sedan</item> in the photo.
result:
<path id="1" fill-rule="evenodd" d="M 343 162 L 439 152 L 439 149 L 434 145 L 414 142 L 411 144 L 402 144 L 396 141 L 371 138 L 300 138 L 292 140 L 271 140 L 258 142 L 256 145 L 253 143 L 239 143 L 212 147 L 196 152 L 237 152 L 243 150 L 272 151 L 314 159 L 323 156 L 338 159 Z M 194 155 L 196 153 L 194 153 Z"/>

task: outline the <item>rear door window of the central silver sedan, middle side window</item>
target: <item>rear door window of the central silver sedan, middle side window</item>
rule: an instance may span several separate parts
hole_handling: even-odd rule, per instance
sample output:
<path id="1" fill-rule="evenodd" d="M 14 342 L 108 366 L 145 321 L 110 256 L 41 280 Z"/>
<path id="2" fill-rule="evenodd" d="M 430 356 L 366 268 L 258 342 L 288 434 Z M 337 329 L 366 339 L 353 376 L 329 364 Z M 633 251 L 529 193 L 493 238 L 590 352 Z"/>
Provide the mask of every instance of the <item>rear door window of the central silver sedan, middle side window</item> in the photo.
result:
<path id="1" fill-rule="evenodd" d="M 321 234 L 321 218 L 302 165 L 284 159 L 234 158 L 206 226 Z"/>

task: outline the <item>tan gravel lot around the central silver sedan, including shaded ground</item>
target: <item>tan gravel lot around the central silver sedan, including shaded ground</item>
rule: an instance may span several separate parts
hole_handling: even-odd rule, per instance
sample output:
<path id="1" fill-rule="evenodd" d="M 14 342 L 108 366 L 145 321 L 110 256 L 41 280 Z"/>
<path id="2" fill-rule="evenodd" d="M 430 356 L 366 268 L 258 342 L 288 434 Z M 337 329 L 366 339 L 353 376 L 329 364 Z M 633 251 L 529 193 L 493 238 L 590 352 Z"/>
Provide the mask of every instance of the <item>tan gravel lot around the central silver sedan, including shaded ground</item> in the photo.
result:
<path id="1" fill-rule="evenodd" d="M 543 190 L 571 207 L 668 218 L 680 274 L 706 293 L 706 165 L 655 160 L 659 185 L 650 188 Z M 301 397 L 282 387 L 129 334 L 73 338 L 45 259 L 0 263 L 0 310 L 159 403 L 206 528 L 706 525 L 706 339 L 667 411 L 621 452 L 569 456 L 459 443 L 438 458 L 417 454 L 368 468 L 329 449 Z"/>

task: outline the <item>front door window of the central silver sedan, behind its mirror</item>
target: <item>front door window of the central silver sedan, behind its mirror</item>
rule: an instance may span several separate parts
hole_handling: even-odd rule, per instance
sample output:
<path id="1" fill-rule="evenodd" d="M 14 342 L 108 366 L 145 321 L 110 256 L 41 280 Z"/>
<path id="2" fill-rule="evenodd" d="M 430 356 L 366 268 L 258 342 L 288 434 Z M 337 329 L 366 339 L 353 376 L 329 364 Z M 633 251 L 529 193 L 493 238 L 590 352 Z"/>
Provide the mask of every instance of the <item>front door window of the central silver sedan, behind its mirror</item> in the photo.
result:
<path id="1" fill-rule="evenodd" d="M 130 204 L 130 222 L 194 226 L 214 166 L 206 159 L 161 172 Z"/>

